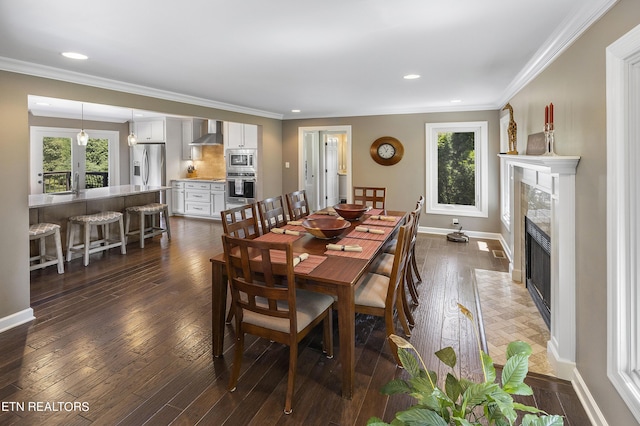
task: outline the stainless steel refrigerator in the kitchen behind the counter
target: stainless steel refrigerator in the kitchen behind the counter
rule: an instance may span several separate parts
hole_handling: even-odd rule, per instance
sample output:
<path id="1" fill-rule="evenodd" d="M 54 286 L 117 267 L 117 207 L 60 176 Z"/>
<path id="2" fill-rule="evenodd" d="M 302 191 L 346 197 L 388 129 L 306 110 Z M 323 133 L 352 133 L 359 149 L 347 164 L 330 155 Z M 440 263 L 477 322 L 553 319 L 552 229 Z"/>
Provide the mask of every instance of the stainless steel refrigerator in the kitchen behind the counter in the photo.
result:
<path id="1" fill-rule="evenodd" d="M 131 147 L 131 184 L 140 186 L 166 185 L 164 143 L 141 143 Z"/>

